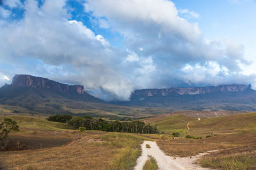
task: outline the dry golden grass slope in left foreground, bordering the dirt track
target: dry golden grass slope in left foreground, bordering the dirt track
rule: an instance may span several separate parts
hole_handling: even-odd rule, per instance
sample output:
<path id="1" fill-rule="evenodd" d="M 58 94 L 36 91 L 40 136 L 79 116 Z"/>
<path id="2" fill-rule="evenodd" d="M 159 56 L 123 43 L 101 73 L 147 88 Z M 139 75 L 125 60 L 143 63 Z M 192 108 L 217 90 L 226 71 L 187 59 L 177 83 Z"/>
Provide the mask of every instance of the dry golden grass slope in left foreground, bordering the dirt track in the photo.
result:
<path id="1" fill-rule="evenodd" d="M 132 169 L 136 164 L 143 138 L 132 134 L 86 133 L 65 146 L 0 152 L 0 162 L 4 169 Z"/>

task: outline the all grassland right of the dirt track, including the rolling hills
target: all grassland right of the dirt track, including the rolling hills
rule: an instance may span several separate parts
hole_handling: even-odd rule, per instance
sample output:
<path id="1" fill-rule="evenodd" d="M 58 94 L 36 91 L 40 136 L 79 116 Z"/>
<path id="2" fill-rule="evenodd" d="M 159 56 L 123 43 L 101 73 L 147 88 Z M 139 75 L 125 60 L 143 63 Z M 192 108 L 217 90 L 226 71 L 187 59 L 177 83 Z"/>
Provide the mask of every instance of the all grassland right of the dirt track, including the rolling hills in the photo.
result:
<path id="1" fill-rule="evenodd" d="M 168 155 L 189 157 L 209 150 L 200 163 L 218 169 L 255 169 L 256 113 L 243 113 L 198 121 L 185 115 L 146 119 L 164 131 L 157 144 Z M 187 124 L 189 122 L 189 131 Z M 180 137 L 172 136 L 179 132 Z M 186 135 L 202 139 L 186 139 Z M 206 138 L 207 137 L 207 138 Z"/>

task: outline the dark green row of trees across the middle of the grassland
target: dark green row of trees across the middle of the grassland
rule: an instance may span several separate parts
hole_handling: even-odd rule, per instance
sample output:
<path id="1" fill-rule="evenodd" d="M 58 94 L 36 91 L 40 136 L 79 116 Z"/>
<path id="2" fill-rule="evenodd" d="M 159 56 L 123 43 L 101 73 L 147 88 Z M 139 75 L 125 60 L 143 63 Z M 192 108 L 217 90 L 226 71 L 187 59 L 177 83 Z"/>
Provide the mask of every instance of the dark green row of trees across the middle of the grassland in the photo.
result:
<path id="1" fill-rule="evenodd" d="M 48 118 L 48 120 L 53 122 L 58 122 L 54 120 L 61 120 L 63 115 L 56 115 L 55 118 Z M 84 117 L 72 117 L 67 120 L 68 129 L 79 129 L 79 127 L 84 127 L 86 130 L 99 130 L 107 132 L 129 132 L 129 133 L 141 133 L 141 134 L 156 134 L 159 130 L 156 126 L 146 125 L 141 121 L 131 121 L 131 122 L 120 122 L 118 120 L 104 120 L 102 118 L 92 118 L 88 116 Z"/>

